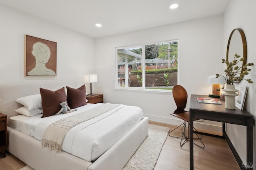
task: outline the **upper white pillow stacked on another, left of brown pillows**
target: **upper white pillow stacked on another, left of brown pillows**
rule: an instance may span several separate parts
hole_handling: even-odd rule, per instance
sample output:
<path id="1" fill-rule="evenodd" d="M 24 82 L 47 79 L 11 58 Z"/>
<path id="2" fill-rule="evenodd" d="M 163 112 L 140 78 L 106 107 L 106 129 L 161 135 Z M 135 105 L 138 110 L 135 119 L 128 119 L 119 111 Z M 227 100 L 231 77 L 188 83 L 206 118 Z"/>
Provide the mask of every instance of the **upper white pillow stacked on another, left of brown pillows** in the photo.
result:
<path id="1" fill-rule="evenodd" d="M 42 108 L 42 98 L 40 94 L 21 97 L 16 102 L 26 106 L 29 110 Z"/>

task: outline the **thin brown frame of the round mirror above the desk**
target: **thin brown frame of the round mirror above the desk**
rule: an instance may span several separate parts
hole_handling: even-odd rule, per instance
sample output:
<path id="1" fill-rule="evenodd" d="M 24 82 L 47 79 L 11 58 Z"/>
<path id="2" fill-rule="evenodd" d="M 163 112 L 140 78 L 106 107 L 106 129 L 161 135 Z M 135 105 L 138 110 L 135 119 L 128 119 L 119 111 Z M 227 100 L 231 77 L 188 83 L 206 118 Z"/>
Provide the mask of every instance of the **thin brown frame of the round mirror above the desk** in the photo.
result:
<path id="1" fill-rule="evenodd" d="M 244 35 L 244 31 L 241 28 L 235 28 L 234 30 L 232 30 L 229 39 L 228 39 L 228 47 L 227 47 L 227 53 L 226 53 L 226 60 L 228 60 L 228 51 L 229 51 L 229 45 L 230 45 L 230 41 L 232 38 L 233 33 L 238 30 L 238 32 L 240 33 L 240 36 L 242 38 L 242 44 L 243 44 L 243 57 L 244 57 L 244 61 L 242 63 L 242 70 L 241 73 L 244 71 L 243 66 L 246 64 L 246 60 L 247 60 L 247 44 L 246 44 L 246 38 Z M 234 55 L 234 54 L 232 54 Z"/>

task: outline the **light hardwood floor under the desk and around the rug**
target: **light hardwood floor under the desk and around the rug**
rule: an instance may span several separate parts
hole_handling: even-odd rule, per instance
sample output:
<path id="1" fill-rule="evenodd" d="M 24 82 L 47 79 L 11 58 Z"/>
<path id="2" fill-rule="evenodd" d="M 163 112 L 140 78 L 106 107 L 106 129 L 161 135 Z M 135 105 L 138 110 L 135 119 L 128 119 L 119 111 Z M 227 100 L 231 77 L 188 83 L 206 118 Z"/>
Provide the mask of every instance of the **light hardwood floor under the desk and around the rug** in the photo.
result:
<path id="1" fill-rule="evenodd" d="M 150 121 L 150 124 L 169 127 L 176 126 Z M 180 135 L 175 130 L 173 135 Z M 195 170 L 240 170 L 225 139 L 203 136 L 205 148 L 194 146 Z M 0 170 L 19 170 L 26 166 L 24 162 L 7 152 L 7 156 L 0 155 Z M 180 148 L 180 139 L 167 136 L 154 170 L 189 170 L 189 142 Z"/>

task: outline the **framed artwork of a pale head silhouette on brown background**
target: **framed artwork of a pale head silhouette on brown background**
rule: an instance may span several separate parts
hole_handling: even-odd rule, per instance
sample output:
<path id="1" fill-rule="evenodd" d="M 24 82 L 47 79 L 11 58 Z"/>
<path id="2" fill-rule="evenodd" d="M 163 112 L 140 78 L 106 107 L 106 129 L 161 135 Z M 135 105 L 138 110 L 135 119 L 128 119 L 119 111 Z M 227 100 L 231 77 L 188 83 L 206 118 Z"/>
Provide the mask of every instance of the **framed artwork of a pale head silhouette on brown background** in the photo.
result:
<path id="1" fill-rule="evenodd" d="M 57 43 L 25 35 L 25 76 L 56 76 Z"/>

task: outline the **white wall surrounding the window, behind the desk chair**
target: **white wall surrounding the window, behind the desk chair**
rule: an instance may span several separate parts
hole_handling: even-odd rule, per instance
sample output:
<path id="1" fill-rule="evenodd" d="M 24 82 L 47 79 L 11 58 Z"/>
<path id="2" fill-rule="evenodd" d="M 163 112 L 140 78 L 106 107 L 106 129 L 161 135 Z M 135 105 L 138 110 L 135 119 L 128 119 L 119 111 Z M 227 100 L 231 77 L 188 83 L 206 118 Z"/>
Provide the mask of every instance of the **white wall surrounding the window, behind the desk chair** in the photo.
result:
<path id="1" fill-rule="evenodd" d="M 98 38 L 95 42 L 96 70 L 98 82 L 94 87 L 104 94 L 104 101 L 123 103 L 142 108 L 144 115 L 152 121 L 176 124 L 170 113 L 176 109 L 172 93 L 148 93 L 114 89 L 115 47 L 154 43 L 179 39 L 179 84 L 191 94 L 208 95 L 211 85 L 207 77 L 222 71 L 223 16 L 214 16 L 167 26 L 149 28 L 126 34 Z M 189 100 L 187 110 L 189 108 Z M 197 123 L 195 123 L 197 124 Z M 221 123 L 204 121 L 195 125 L 204 130 L 222 132 Z"/>

